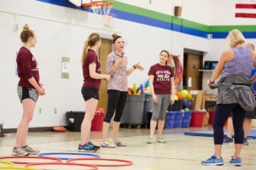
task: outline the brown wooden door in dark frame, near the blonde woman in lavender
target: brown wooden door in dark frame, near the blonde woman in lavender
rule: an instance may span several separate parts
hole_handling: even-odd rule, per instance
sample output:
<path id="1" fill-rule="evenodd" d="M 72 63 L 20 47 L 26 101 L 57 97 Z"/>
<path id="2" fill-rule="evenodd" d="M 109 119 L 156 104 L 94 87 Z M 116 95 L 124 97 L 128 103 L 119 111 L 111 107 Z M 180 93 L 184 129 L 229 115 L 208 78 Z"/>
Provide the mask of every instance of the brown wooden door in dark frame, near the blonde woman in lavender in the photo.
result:
<path id="1" fill-rule="evenodd" d="M 183 88 L 188 90 L 202 89 L 203 52 L 184 49 L 183 55 Z"/>

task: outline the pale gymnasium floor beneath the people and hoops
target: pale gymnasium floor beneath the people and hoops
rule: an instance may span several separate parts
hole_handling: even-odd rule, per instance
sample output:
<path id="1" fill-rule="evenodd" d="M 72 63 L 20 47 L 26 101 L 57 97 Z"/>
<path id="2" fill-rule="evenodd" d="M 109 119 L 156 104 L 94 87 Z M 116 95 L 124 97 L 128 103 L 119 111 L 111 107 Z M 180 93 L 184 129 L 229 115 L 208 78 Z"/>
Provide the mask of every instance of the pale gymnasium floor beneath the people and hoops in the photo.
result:
<path id="1" fill-rule="evenodd" d="M 99 169 L 121 169 L 121 170 L 255 170 L 256 169 L 256 140 L 250 139 L 249 145 L 242 150 L 242 166 L 233 167 L 228 164 L 230 156 L 233 155 L 234 145 L 224 144 L 223 157 L 224 166 L 202 166 L 201 160 L 213 154 L 212 137 L 185 136 L 183 132 L 207 130 L 203 128 L 177 128 L 165 129 L 163 137 L 166 144 L 146 144 L 149 129 L 145 128 L 121 128 L 119 136 L 129 144 L 127 147 L 116 149 L 102 148 L 96 152 L 102 158 L 125 159 L 133 161 L 131 167 L 99 167 Z M 92 132 L 91 139 L 95 144 L 101 142 L 101 132 Z M 42 132 L 29 133 L 28 143 L 32 147 L 43 152 L 77 152 L 80 133 L 66 132 Z M 15 144 L 15 133 L 11 136 L 0 138 L 0 156 L 11 156 L 10 151 Z M 70 156 L 69 156 L 70 157 Z M 80 161 L 82 163 L 82 161 Z M 85 163 L 85 162 L 84 162 Z M 88 162 L 87 162 L 88 163 Z M 105 163 L 105 162 L 104 162 Z M 15 165 L 17 166 L 17 165 Z M 22 165 L 18 165 L 22 166 Z M 38 167 L 39 168 L 39 167 Z M 58 169 L 66 169 L 59 167 Z M 76 169 L 76 168 L 67 168 Z M 77 168 L 79 169 L 79 168 Z"/>

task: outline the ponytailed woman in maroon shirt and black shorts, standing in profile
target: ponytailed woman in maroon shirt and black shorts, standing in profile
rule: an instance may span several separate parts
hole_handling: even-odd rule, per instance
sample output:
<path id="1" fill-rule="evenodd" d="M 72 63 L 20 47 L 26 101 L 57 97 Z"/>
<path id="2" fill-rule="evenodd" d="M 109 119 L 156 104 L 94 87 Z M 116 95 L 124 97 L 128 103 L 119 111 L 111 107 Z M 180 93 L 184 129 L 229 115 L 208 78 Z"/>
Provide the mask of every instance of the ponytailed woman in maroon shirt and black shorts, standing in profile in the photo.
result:
<path id="1" fill-rule="evenodd" d="M 90 47 L 90 48 L 89 48 Z M 99 101 L 99 88 L 101 79 L 108 81 L 109 75 L 101 74 L 101 64 L 96 55 L 96 51 L 101 47 L 101 37 L 92 33 L 84 43 L 82 55 L 84 85 L 82 95 L 85 101 L 85 116 L 81 125 L 81 142 L 79 151 L 95 152 L 100 147 L 89 141 L 91 121 L 94 117 L 96 106 Z"/>

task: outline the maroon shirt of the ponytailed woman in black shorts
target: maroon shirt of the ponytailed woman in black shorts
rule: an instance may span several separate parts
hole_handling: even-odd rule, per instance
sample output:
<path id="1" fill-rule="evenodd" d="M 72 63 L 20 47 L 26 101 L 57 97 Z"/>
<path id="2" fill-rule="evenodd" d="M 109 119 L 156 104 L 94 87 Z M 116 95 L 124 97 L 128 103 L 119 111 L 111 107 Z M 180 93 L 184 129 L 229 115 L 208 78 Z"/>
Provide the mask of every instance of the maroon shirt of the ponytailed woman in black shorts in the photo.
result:
<path id="1" fill-rule="evenodd" d="M 95 51 L 92 49 L 88 49 L 88 54 L 84 59 L 84 65 L 83 65 L 83 75 L 84 75 L 83 87 L 100 88 L 101 79 L 94 79 L 90 77 L 89 65 L 91 63 L 96 63 L 96 73 L 101 74 L 101 63 L 99 62 Z"/>

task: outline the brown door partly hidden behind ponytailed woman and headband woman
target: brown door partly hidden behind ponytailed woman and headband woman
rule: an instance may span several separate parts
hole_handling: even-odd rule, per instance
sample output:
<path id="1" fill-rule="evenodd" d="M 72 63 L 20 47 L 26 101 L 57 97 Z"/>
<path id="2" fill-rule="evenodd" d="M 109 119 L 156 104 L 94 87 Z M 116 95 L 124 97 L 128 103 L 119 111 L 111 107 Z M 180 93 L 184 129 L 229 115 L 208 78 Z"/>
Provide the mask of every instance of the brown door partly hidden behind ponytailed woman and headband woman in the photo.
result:
<path id="1" fill-rule="evenodd" d="M 112 42 L 111 40 L 102 38 L 102 45 L 99 50 L 99 59 L 101 62 L 102 74 L 106 74 L 106 59 L 108 54 L 111 53 Z M 102 107 L 106 112 L 108 109 L 108 82 L 102 80 L 101 88 L 99 90 L 100 100 L 97 107 Z"/>

